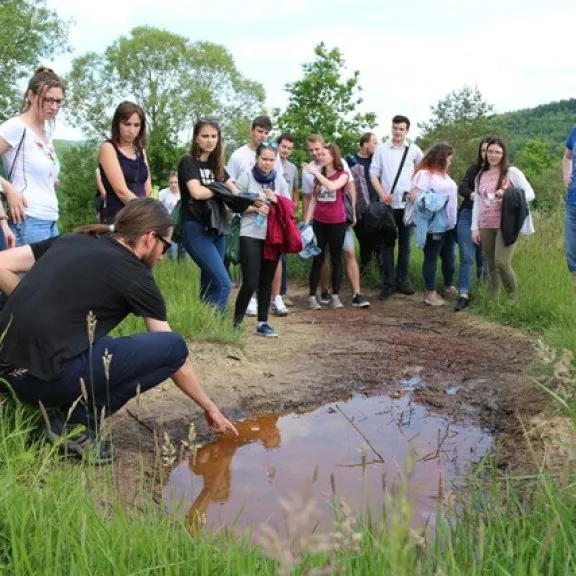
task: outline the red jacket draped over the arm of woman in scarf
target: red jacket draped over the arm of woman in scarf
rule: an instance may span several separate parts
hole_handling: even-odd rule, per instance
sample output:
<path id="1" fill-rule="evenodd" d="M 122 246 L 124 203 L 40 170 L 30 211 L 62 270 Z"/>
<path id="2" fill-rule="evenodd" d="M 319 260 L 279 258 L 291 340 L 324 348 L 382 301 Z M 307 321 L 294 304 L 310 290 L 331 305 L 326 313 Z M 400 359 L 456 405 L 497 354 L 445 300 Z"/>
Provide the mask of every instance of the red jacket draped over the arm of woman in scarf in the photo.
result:
<path id="1" fill-rule="evenodd" d="M 302 236 L 296 226 L 294 203 L 288 198 L 278 196 L 278 202 L 270 204 L 264 259 L 276 260 L 280 254 L 293 254 L 301 250 Z"/>

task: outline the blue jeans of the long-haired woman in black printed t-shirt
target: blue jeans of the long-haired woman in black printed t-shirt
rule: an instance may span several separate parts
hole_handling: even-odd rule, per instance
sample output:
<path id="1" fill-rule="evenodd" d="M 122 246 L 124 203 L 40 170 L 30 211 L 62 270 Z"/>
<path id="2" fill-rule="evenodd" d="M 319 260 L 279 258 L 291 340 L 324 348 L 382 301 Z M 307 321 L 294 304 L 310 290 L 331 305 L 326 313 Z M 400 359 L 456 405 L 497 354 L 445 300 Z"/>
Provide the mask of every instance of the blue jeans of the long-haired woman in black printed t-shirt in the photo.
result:
<path id="1" fill-rule="evenodd" d="M 226 237 L 206 232 L 203 224 L 191 219 L 182 223 L 182 240 L 186 252 L 200 268 L 200 297 L 224 312 L 232 291 L 232 282 L 224 265 Z"/>

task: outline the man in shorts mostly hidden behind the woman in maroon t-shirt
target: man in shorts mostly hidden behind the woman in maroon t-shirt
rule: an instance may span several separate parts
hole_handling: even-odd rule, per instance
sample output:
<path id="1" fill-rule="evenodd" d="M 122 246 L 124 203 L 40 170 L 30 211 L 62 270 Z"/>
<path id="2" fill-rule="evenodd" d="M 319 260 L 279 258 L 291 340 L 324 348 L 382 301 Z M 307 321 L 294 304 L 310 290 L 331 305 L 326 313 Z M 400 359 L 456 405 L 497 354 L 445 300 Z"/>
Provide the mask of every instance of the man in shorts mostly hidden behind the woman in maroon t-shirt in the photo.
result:
<path id="1" fill-rule="evenodd" d="M 310 154 L 310 159 L 312 160 L 314 166 L 318 169 L 322 167 L 320 163 L 320 158 L 324 150 L 324 138 L 318 134 L 314 134 L 306 139 L 306 145 L 308 146 L 308 153 Z M 350 168 L 346 163 L 346 160 L 342 158 L 342 165 L 344 170 L 348 172 L 348 194 L 352 201 L 352 205 L 356 204 L 356 187 L 354 186 L 354 179 Z M 314 176 L 308 173 L 306 170 L 302 171 L 302 217 L 306 216 L 308 212 L 308 207 L 310 205 L 310 198 L 312 192 L 314 191 Z M 360 290 L 360 267 L 358 266 L 358 261 L 356 260 L 356 251 L 354 249 L 354 234 L 352 233 L 352 226 L 348 227 L 346 231 L 346 237 L 344 239 L 344 245 L 342 247 L 344 253 L 344 260 L 346 262 L 346 272 L 348 274 L 348 279 L 352 286 L 352 306 L 358 308 L 367 308 L 370 306 L 370 301 L 366 296 L 364 296 Z M 328 258 L 324 259 L 324 265 L 322 266 L 322 272 L 320 276 L 320 304 L 328 304 L 331 302 L 331 295 L 329 291 L 330 280 L 329 280 L 329 268 L 328 268 Z"/>

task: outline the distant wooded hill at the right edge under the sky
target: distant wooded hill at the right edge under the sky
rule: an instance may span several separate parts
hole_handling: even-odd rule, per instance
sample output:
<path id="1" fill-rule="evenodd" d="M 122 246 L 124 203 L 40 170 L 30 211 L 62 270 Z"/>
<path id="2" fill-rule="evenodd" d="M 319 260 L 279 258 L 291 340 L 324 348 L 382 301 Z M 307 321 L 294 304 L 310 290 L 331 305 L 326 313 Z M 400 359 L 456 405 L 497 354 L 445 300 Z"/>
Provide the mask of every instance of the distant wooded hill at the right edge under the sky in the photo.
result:
<path id="1" fill-rule="evenodd" d="M 508 136 L 513 156 L 530 138 L 542 138 L 549 144 L 551 152 L 561 154 L 568 133 L 575 124 L 576 98 L 496 114 L 490 119 L 495 133 Z"/>

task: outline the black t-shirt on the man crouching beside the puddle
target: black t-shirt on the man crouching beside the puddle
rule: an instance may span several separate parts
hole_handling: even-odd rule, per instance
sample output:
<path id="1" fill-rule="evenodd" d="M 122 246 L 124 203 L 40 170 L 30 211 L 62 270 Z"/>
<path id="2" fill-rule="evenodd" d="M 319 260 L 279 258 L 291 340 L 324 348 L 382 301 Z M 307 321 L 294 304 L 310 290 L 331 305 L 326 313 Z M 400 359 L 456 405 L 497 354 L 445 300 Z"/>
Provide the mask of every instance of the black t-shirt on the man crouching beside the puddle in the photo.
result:
<path id="1" fill-rule="evenodd" d="M 94 341 L 131 313 L 166 320 L 152 271 L 112 238 L 66 234 L 30 247 L 36 263 L 0 312 L 3 364 L 58 378 L 64 362 L 89 348 L 90 311 Z"/>

